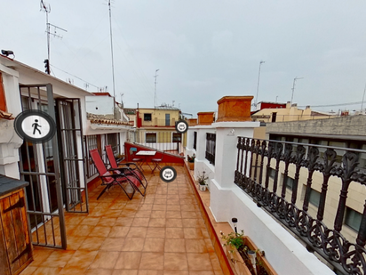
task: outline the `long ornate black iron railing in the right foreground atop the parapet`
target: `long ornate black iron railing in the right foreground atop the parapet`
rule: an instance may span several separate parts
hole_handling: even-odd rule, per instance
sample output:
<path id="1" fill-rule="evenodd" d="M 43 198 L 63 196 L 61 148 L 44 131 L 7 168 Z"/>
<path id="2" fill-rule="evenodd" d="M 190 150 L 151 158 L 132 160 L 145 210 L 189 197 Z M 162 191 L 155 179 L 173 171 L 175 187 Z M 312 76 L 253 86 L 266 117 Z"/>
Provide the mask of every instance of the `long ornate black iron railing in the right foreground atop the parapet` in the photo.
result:
<path id="1" fill-rule="evenodd" d="M 237 150 L 237 186 L 338 274 L 365 274 L 366 195 L 361 188 L 357 198 L 347 198 L 351 182 L 353 192 L 366 185 L 365 150 L 243 137 L 238 139 Z M 344 224 L 348 200 L 363 205 L 354 238 Z"/>

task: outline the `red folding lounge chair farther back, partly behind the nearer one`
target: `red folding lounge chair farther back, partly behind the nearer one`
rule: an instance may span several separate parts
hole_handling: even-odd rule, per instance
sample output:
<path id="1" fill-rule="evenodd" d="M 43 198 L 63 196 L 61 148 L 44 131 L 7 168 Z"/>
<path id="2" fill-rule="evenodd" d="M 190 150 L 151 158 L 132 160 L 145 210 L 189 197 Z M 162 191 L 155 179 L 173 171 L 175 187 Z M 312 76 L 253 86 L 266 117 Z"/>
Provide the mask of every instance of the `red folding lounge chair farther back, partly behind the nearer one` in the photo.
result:
<path id="1" fill-rule="evenodd" d="M 139 166 L 137 166 L 135 163 L 133 162 L 119 162 L 117 163 L 116 159 L 115 159 L 115 154 L 113 153 L 112 150 L 112 145 L 106 145 L 106 153 L 107 153 L 107 158 L 109 160 L 109 164 L 111 171 L 115 171 L 116 173 L 118 173 L 118 169 L 119 168 L 125 168 L 127 169 L 127 171 L 125 171 L 125 174 L 132 174 L 134 176 L 137 176 L 139 178 L 139 181 L 142 183 L 142 187 L 145 189 L 144 190 L 144 194 L 146 192 L 147 189 L 147 179 L 145 178 L 145 175 L 141 172 L 141 170 L 139 170 Z M 145 184 L 144 184 L 145 183 Z"/>

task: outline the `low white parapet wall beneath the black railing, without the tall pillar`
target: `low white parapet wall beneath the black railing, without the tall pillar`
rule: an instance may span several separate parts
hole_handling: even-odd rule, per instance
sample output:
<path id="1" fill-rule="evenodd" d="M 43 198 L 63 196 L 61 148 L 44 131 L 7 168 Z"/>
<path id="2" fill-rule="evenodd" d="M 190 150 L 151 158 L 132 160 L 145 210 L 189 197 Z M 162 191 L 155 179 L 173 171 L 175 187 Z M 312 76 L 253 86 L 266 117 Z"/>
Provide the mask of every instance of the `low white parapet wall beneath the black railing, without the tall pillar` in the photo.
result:
<path id="1" fill-rule="evenodd" d="M 266 252 L 268 262 L 278 274 L 335 274 L 234 183 L 229 188 L 221 188 L 218 182 L 211 180 L 210 192 L 210 208 L 216 221 L 229 222 L 237 218 L 238 231 L 243 230 Z"/>

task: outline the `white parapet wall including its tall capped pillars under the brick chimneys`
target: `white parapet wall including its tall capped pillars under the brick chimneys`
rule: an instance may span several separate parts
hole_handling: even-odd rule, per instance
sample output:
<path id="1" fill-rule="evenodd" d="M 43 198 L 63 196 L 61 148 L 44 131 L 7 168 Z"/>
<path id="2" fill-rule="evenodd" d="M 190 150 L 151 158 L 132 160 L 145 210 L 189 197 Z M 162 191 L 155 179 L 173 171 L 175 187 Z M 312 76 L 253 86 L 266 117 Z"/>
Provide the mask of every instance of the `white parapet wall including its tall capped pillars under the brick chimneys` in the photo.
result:
<path id="1" fill-rule="evenodd" d="M 211 126 L 189 128 L 191 139 L 194 131 L 198 133 L 195 175 L 203 170 L 212 175 L 209 183 L 211 213 L 217 222 L 231 223 L 231 219 L 236 217 L 238 230 L 243 230 L 259 249 L 266 252 L 267 260 L 278 274 L 334 275 L 333 271 L 309 253 L 290 232 L 235 185 L 237 137 L 252 137 L 254 128 L 258 126 L 259 122 L 219 122 Z M 216 158 L 215 166 L 212 166 L 204 158 L 205 133 L 214 133 L 215 130 Z M 189 148 L 187 150 L 192 151 Z"/>

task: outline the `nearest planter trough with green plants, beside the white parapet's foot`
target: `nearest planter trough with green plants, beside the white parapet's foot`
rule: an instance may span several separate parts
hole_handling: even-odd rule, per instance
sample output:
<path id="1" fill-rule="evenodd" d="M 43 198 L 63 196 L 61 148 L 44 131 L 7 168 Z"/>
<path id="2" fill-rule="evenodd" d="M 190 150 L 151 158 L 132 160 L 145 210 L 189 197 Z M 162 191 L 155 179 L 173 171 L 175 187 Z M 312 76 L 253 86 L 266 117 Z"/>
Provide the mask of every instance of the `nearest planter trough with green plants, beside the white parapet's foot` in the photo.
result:
<path id="1" fill-rule="evenodd" d="M 265 258 L 264 252 L 260 251 L 244 232 L 231 232 L 225 235 L 222 231 L 221 239 L 226 247 L 227 258 L 235 274 L 244 275 L 276 275 L 275 270 Z"/>

